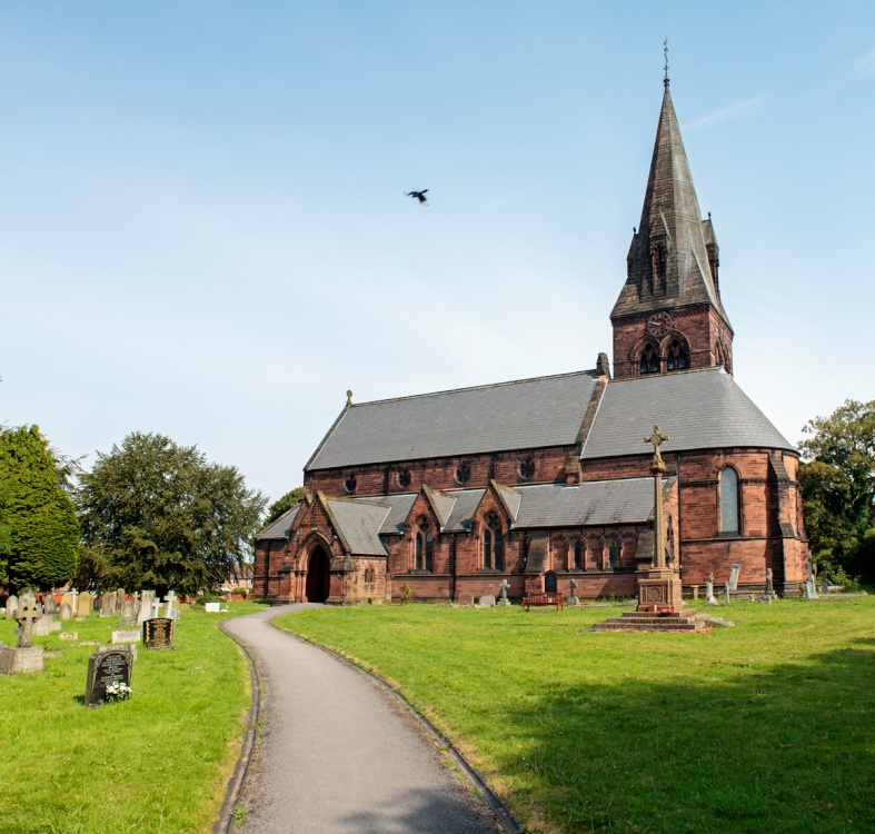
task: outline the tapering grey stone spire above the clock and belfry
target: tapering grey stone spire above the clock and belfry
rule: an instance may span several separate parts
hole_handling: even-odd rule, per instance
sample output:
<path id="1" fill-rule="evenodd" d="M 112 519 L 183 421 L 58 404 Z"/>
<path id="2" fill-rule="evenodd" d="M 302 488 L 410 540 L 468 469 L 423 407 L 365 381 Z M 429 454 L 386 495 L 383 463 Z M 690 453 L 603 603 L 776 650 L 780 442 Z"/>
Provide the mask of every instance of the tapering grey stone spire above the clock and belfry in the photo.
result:
<path id="1" fill-rule="evenodd" d="M 710 217 L 702 220 L 667 78 L 664 83 L 640 226 L 632 238 L 626 284 L 610 317 L 707 304 L 732 332 L 716 281 L 717 239 Z"/>

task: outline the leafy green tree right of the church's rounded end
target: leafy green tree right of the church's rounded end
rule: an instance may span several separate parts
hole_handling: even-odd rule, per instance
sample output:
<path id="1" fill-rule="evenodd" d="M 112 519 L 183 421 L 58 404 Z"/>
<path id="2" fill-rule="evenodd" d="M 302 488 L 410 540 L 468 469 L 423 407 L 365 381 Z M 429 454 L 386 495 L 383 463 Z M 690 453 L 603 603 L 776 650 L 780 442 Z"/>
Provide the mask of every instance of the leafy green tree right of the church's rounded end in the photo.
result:
<path id="1" fill-rule="evenodd" d="M 875 579 L 875 400 L 817 417 L 799 444 L 805 527 L 827 575 Z"/>

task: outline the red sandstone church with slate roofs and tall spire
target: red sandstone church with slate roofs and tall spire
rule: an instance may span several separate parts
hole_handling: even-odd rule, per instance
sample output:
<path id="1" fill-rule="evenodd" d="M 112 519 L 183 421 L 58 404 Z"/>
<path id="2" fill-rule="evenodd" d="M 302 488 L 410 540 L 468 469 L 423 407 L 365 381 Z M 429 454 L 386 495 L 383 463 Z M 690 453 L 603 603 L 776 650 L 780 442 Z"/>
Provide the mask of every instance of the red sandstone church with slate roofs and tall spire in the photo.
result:
<path id="1" fill-rule="evenodd" d="M 808 549 L 798 454 L 738 387 L 719 248 L 703 220 L 668 81 L 639 227 L 596 367 L 346 406 L 300 503 L 256 543 L 256 597 L 469 604 L 559 590 L 634 596 L 654 560 L 658 425 L 666 558 L 685 594 L 793 593 Z"/>

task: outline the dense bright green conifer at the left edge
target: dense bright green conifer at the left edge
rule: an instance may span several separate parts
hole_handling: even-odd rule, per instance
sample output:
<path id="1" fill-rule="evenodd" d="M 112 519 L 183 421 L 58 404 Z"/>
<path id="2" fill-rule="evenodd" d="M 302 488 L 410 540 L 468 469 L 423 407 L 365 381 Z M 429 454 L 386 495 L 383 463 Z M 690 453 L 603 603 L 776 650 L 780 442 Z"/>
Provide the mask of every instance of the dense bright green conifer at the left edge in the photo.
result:
<path id="1" fill-rule="evenodd" d="M 79 522 L 39 426 L 0 434 L 0 583 L 50 588 L 76 570 Z"/>

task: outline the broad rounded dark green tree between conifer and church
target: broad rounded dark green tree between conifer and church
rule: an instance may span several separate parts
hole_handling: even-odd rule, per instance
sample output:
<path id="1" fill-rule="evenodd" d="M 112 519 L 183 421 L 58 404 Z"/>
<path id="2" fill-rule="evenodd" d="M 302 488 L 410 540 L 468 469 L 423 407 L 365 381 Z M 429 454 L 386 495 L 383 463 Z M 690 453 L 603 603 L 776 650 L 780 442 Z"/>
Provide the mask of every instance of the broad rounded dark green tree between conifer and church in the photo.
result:
<path id="1" fill-rule="evenodd" d="M 133 433 L 98 454 L 78 503 L 92 583 L 195 594 L 246 560 L 267 499 L 197 447 Z"/>

